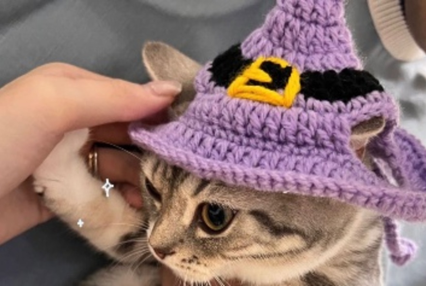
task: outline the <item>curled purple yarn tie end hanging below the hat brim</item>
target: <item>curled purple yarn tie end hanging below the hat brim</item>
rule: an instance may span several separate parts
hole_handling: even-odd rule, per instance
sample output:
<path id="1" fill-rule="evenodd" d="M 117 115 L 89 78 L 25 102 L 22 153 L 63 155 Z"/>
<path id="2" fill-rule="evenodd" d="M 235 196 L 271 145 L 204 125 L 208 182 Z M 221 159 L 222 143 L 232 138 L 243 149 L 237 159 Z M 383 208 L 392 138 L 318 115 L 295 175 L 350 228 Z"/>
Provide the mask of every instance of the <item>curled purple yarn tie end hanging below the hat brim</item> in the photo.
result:
<path id="1" fill-rule="evenodd" d="M 395 220 L 384 218 L 385 240 L 391 260 L 398 266 L 409 262 L 416 253 L 417 246 L 410 239 L 400 238 Z"/>

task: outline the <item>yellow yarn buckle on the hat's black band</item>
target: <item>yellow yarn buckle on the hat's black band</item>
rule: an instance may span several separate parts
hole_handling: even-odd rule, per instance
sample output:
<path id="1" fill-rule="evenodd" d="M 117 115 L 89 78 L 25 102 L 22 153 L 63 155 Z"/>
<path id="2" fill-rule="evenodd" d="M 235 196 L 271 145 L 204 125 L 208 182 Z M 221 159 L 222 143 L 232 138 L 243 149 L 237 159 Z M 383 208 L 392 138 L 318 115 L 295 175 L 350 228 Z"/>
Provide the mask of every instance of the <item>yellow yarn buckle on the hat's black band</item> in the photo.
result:
<path id="1" fill-rule="evenodd" d="M 274 75 L 262 69 L 262 65 L 268 62 L 278 64 L 282 71 L 286 68 L 289 71 L 291 68 L 285 86 L 279 86 L 277 89 L 268 87 L 274 85 L 274 80 L 277 80 L 274 79 Z M 300 73 L 295 67 L 283 59 L 260 57 L 229 85 L 228 95 L 290 108 L 300 90 Z"/>

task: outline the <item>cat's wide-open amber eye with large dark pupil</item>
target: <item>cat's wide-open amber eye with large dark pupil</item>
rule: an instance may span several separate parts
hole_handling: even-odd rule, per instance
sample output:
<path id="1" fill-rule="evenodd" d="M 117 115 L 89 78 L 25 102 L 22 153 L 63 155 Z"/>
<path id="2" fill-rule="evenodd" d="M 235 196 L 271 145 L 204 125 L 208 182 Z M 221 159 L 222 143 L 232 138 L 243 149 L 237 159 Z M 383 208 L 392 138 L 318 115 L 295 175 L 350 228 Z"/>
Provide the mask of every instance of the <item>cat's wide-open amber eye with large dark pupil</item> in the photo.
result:
<path id="1" fill-rule="evenodd" d="M 204 204 L 200 210 L 200 221 L 204 231 L 218 234 L 225 231 L 235 216 L 229 207 L 217 204 Z"/>

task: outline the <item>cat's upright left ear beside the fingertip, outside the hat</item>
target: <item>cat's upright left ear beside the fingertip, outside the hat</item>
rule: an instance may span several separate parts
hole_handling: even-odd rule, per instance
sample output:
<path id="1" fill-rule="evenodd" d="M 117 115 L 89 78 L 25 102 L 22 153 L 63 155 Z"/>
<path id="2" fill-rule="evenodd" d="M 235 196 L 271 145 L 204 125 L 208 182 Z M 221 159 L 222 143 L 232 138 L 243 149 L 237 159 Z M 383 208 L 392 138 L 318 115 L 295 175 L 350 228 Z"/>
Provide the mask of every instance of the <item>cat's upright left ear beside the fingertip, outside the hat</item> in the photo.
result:
<path id="1" fill-rule="evenodd" d="M 146 43 L 142 48 L 142 59 L 151 79 L 176 80 L 182 83 L 182 93 L 172 105 L 175 113 L 182 113 L 183 108 L 196 95 L 194 79 L 202 66 L 161 42 Z"/>

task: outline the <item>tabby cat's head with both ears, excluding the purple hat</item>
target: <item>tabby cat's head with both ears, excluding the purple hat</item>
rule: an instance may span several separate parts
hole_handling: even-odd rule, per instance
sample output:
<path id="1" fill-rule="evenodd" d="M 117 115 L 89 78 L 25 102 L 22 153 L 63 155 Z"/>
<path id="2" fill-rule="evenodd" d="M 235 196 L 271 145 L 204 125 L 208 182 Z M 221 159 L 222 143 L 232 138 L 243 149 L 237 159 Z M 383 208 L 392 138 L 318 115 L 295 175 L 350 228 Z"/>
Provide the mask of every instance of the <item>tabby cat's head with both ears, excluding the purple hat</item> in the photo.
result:
<path id="1" fill-rule="evenodd" d="M 143 58 L 153 79 L 183 83 L 183 94 L 172 108 L 179 116 L 195 96 L 193 80 L 200 65 L 161 43 L 147 44 Z M 351 146 L 366 164 L 365 146 L 383 127 L 378 117 L 352 129 Z M 301 275 L 324 263 L 355 232 L 377 221 L 371 212 L 329 198 L 206 181 L 150 153 L 143 160 L 141 181 L 150 217 L 149 248 L 187 281 L 220 276 L 277 283 L 274 279 Z"/>

